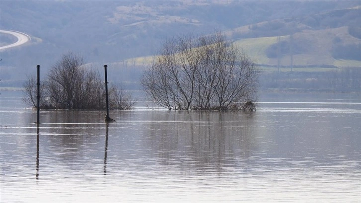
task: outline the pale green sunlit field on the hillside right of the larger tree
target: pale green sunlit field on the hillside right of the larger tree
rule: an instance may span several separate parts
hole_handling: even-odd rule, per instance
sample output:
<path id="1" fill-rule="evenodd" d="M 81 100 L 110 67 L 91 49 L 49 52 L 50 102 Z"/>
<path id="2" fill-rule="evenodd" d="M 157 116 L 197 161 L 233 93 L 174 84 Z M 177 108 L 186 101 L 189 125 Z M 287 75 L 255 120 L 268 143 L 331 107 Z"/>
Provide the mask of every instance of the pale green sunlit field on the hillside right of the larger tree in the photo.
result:
<path id="1" fill-rule="evenodd" d="M 336 42 L 335 39 L 342 36 L 342 42 Z M 280 42 L 278 37 L 259 37 L 236 40 L 234 44 L 240 49 L 243 49 L 251 58 L 253 58 L 258 64 L 266 64 L 270 66 L 278 65 L 277 57 L 268 57 L 267 52 L 270 52 L 272 46 L 274 46 L 275 55 L 277 56 L 277 44 L 281 42 L 290 43 L 290 36 L 280 36 Z M 360 44 L 361 40 L 352 37 L 348 34 L 347 27 L 325 29 L 325 30 L 304 30 L 293 35 L 293 46 L 299 50 L 294 50 L 293 53 L 293 65 L 294 66 L 336 66 L 343 67 L 361 67 L 361 60 L 352 59 L 339 59 L 335 58 L 333 53 L 337 46 L 350 46 L 352 44 Z M 361 49 L 357 51 L 360 52 Z M 271 50 L 272 51 L 272 50 Z M 345 51 L 345 50 L 340 50 Z M 297 53 L 298 52 L 298 53 Z M 289 51 L 287 53 L 279 53 L 280 66 L 290 66 L 291 57 Z"/>

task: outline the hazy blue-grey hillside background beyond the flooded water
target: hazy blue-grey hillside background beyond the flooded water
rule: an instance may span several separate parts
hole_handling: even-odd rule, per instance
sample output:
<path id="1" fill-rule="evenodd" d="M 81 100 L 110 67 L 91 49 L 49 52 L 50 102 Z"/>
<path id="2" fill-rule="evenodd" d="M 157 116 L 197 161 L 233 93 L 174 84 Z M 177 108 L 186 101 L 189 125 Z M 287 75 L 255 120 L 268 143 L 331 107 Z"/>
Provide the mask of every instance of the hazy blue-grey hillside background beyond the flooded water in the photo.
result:
<path id="1" fill-rule="evenodd" d="M 1 87 L 84 57 L 127 89 L 167 38 L 222 31 L 260 66 L 260 90 L 360 91 L 361 1 L 0 1 L 0 29 L 31 41 L 0 52 Z M 0 45 L 16 38 L 0 34 Z"/>

